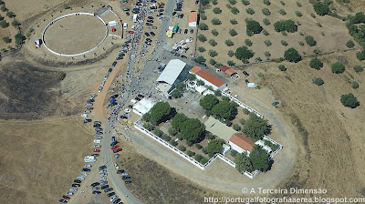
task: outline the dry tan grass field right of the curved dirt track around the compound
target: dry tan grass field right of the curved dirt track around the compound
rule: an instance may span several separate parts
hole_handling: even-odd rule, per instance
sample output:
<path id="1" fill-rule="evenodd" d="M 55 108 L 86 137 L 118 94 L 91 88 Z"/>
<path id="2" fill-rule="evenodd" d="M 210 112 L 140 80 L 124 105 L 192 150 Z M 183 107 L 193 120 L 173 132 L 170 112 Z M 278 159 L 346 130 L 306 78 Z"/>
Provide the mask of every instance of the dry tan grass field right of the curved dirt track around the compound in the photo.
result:
<path id="1" fill-rule="evenodd" d="M 261 81 L 263 88 L 269 88 L 280 101 L 278 110 L 285 114 L 287 122 L 294 129 L 301 123 L 308 130 L 308 138 L 296 131 L 300 154 L 293 175 L 284 186 L 328 189 L 328 196 L 332 197 L 360 196 L 361 192 L 365 196 L 365 73 L 354 72 L 352 67 L 361 62 L 353 51 L 318 58 L 324 63 L 321 70 L 308 66 L 310 58 L 297 64 L 283 63 L 286 72 L 279 71 L 280 64 L 276 63 L 246 68 L 251 73 L 249 80 Z M 330 65 L 337 61 L 346 66 L 339 75 L 330 70 Z M 257 76 L 259 72 L 264 74 L 262 78 Z M 315 77 L 321 77 L 325 84 L 312 84 Z M 360 87 L 353 89 L 352 81 Z M 240 83 L 246 88 L 245 82 Z M 358 97 L 360 107 L 342 106 L 339 98 L 348 93 Z"/>

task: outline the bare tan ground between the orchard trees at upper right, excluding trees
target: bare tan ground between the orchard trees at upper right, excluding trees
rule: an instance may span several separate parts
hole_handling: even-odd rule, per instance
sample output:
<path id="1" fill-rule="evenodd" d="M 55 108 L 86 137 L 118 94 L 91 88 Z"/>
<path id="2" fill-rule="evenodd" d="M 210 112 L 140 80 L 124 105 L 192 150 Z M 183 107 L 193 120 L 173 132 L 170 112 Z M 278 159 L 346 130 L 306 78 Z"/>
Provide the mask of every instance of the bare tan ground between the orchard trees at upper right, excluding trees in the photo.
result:
<path id="1" fill-rule="evenodd" d="M 236 59 L 235 56 L 228 56 L 227 53 L 229 50 L 235 52 L 235 49 L 239 46 L 245 46 L 245 39 L 249 39 L 252 41 L 252 46 L 248 46 L 249 49 L 252 49 L 255 53 L 255 56 L 252 57 L 249 61 L 255 62 L 256 57 L 260 57 L 262 60 L 266 60 L 265 52 L 269 52 L 271 56 L 269 58 L 278 58 L 284 56 L 285 50 L 289 47 L 294 47 L 297 49 L 300 55 L 304 54 L 313 54 L 313 50 L 319 49 L 322 52 L 332 51 L 347 48 L 346 42 L 351 39 L 349 36 L 349 32 L 345 26 L 346 22 L 343 22 L 337 18 L 325 15 L 319 16 L 313 9 L 313 6 L 308 1 L 301 1 L 302 6 L 298 7 L 295 1 L 286 1 L 285 5 L 281 5 L 278 1 L 271 1 L 271 5 L 264 5 L 263 1 L 250 1 L 249 5 L 243 5 L 241 1 L 237 1 L 235 5 L 230 5 L 228 1 L 218 1 L 217 5 L 213 5 L 212 3 L 207 6 L 204 10 L 205 15 L 207 16 L 206 20 L 200 21 L 200 23 L 205 23 L 209 26 L 208 30 L 199 30 L 199 34 L 203 34 L 206 36 L 207 41 L 201 42 L 197 41 L 197 47 L 203 46 L 205 48 L 205 52 L 197 52 L 197 55 L 201 55 L 206 59 L 206 64 L 209 64 L 209 60 L 214 58 L 217 63 L 221 63 L 227 65 L 228 60 L 232 60 L 235 62 L 235 65 L 242 65 L 243 63 Z M 228 9 L 227 5 L 232 7 L 236 7 L 239 10 L 239 13 L 234 15 L 230 9 Z M 221 14 L 214 14 L 214 7 L 219 7 L 222 10 Z M 246 12 L 246 9 L 252 8 L 255 11 L 255 14 L 249 15 Z M 263 8 L 267 8 L 270 11 L 270 15 L 264 15 L 262 12 Z M 286 15 L 280 15 L 279 10 L 284 9 L 287 13 Z M 295 13 L 299 11 L 302 16 L 297 16 Z M 316 17 L 313 18 L 311 14 L 314 14 Z M 213 25 L 212 19 L 218 18 L 222 24 L 221 25 Z M 254 36 L 247 36 L 245 32 L 245 19 L 252 18 L 255 21 L 259 22 L 260 25 L 266 30 L 269 35 L 265 36 L 263 31 L 260 34 L 255 34 Z M 270 25 L 266 26 L 263 23 L 263 20 L 267 18 L 270 21 Z M 230 20 L 235 19 L 237 21 L 236 25 L 232 25 Z M 274 30 L 274 23 L 279 20 L 288 20 L 291 19 L 300 23 L 300 26 L 297 26 L 297 32 L 295 33 L 287 33 L 287 36 L 284 36 L 281 33 L 277 33 Z M 320 24 L 319 27 L 317 24 Z M 212 34 L 212 30 L 218 31 L 218 36 L 214 36 Z M 230 36 L 230 29 L 235 29 L 237 35 Z M 313 36 L 317 41 L 316 46 L 308 46 L 305 41 L 306 36 Z M 214 39 L 217 42 L 216 46 L 211 46 L 208 42 L 210 39 Z M 230 39 L 234 42 L 234 46 L 226 46 L 225 40 Z M 269 40 L 271 42 L 271 46 L 266 46 L 265 41 Z M 281 41 L 284 40 L 287 42 L 287 46 L 283 46 Z M 304 43 L 304 46 L 299 45 L 299 41 Z M 214 50 L 218 52 L 218 56 L 211 57 L 209 56 L 209 50 Z"/>

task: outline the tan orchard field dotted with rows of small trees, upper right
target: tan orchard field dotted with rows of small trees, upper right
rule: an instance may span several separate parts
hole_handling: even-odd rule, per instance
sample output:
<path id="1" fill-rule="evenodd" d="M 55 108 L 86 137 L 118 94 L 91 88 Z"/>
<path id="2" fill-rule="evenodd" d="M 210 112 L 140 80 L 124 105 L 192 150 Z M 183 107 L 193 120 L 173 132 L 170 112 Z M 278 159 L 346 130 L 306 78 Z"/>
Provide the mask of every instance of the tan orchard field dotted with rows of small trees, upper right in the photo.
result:
<path id="1" fill-rule="evenodd" d="M 196 52 L 196 55 L 203 56 L 205 63 L 210 66 L 243 65 L 244 63 L 234 56 L 235 50 L 240 46 L 247 46 L 254 52 L 254 56 L 248 62 L 255 62 L 282 57 L 289 47 L 296 48 L 300 55 L 312 55 L 315 50 L 327 52 L 345 49 L 348 48 L 346 43 L 351 39 L 345 26 L 346 22 L 328 15 L 317 15 L 308 1 L 300 1 L 300 5 L 295 1 L 281 1 L 283 4 L 270 1 L 269 5 L 263 1 L 248 0 L 245 1 L 248 5 L 235 0 L 215 2 L 216 5 L 214 1 L 209 5 L 202 5 L 200 26 L 205 24 L 207 27 L 199 29 L 197 50 L 203 47 L 204 51 Z M 258 22 L 261 30 L 248 36 L 246 19 Z M 276 32 L 274 25 L 280 20 L 293 20 L 297 30 Z M 200 40 L 200 35 L 205 36 L 205 40 Z M 315 41 L 311 46 L 306 41 L 308 36 L 312 36 Z"/>

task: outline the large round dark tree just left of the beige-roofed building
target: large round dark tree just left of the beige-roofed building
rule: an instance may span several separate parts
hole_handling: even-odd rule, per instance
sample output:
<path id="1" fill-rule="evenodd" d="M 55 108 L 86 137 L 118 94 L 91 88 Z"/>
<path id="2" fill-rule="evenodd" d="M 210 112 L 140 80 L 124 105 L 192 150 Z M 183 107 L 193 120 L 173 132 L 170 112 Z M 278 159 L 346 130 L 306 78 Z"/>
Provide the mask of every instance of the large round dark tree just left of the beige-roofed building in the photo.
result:
<path id="1" fill-rule="evenodd" d="M 184 139 L 189 142 L 195 142 L 203 136 L 205 130 L 204 124 L 199 119 L 189 118 L 181 125 L 181 133 Z"/>

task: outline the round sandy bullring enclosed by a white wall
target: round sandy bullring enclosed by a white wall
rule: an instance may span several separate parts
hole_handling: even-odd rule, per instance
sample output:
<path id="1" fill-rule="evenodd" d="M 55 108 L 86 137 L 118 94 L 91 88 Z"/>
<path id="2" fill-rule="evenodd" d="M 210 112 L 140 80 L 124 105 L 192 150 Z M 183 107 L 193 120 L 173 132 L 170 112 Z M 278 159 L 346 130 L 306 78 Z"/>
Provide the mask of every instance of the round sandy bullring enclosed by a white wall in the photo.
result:
<path id="1" fill-rule="evenodd" d="M 108 26 L 90 13 L 62 15 L 43 30 L 42 41 L 57 56 L 85 55 L 99 47 L 108 36 Z"/>

